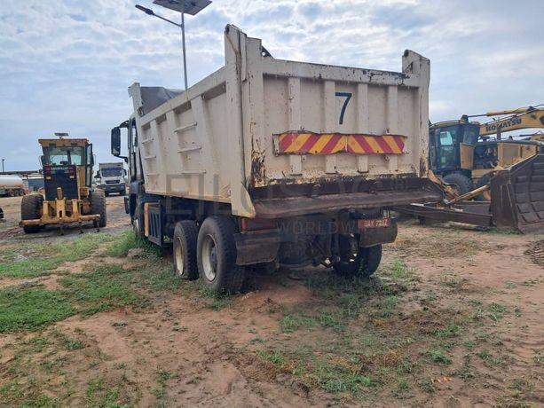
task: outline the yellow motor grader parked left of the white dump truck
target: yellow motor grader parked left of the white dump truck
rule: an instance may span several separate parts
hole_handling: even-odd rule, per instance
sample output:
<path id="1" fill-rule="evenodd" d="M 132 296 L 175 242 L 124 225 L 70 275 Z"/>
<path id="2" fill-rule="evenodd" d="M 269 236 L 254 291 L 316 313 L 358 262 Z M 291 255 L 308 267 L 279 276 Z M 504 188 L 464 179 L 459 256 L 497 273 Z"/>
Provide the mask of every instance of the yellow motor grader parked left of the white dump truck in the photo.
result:
<path id="1" fill-rule="evenodd" d="M 92 189 L 92 145 L 85 138 L 67 138 L 67 133 L 55 133 L 58 138 L 39 139 L 42 146 L 42 194 L 23 197 L 20 215 L 23 230 L 39 231 L 45 225 L 92 222 L 96 228 L 106 226 L 106 196 Z"/>

